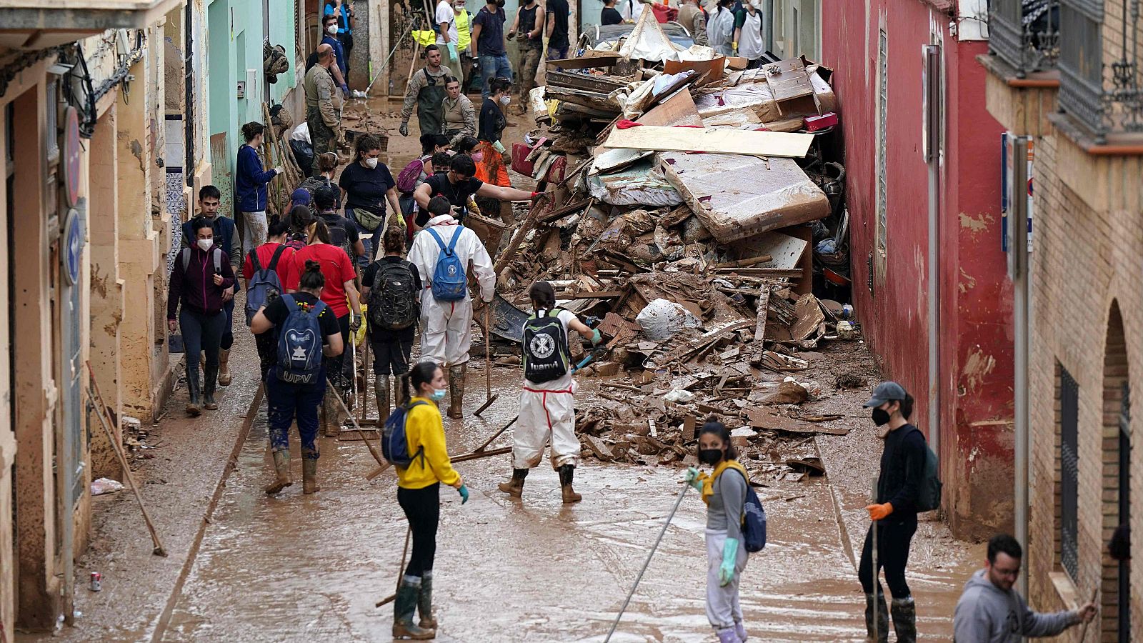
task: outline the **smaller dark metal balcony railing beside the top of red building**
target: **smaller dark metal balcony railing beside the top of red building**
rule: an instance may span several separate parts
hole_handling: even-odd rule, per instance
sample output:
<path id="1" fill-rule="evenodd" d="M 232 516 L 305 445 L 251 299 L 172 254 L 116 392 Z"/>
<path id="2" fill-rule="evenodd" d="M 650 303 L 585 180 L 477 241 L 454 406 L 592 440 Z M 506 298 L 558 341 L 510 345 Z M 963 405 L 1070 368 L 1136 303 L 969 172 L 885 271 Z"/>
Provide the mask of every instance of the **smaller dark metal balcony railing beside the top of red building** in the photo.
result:
<path id="1" fill-rule="evenodd" d="M 989 47 L 1018 78 L 1053 69 L 1060 56 L 1060 0 L 993 0 Z"/>

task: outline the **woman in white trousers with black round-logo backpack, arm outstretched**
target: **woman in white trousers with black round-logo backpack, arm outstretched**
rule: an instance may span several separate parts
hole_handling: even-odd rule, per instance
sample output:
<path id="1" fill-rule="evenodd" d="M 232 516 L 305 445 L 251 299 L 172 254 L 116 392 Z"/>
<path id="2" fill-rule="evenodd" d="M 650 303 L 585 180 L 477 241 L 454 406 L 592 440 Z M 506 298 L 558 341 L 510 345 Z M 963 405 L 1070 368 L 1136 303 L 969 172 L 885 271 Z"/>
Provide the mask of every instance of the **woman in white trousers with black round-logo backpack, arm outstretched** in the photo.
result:
<path id="1" fill-rule="evenodd" d="M 523 493 L 528 470 L 539 465 L 544 446 L 552 444 L 552 468 L 559 471 L 563 502 L 583 497 L 572 487 L 580 461 L 580 438 L 575 435 L 575 390 L 568 333 L 575 331 L 599 344 L 598 328 L 589 328 L 570 310 L 555 305 L 555 291 L 547 281 L 528 288 L 535 313 L 523 326 L 523 387 L 520 415 L 512 439 L 512 478 L 499 490 L 514 498 Z M 539 380 L 539 381 L 537 381 Z"/>

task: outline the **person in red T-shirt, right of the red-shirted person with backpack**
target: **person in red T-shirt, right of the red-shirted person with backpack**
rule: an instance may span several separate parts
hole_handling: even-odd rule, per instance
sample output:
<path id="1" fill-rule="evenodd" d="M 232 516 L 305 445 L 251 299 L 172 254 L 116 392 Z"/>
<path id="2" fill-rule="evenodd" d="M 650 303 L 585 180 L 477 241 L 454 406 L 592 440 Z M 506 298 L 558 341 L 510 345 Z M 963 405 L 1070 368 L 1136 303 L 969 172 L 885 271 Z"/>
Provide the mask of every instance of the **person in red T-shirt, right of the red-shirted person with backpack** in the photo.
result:
<path id="1" fill-rule="evenodd" d="M 317 219 L 310 224 L 306 238 L 310 245 L 294 253 L 294 260 L 289 262 L 289 270 L 286 273 L 286 281 L 282 287 L 287 293 L 297 289 L 298 280 L 305 270 L 306 260 L 314 260 L 321 263 L 321 273 L 326 276 L 326 287 L 321 289 L 321 301 L 337 317 L 337 325 L 342 330 L 342 340 L 349 344 L 350 333 L 357 332 L 361 327 L 361 297 L 358 295 L 354 279 L 357 272 L 353 269 L 353 261 L 350 255 L 338 246 L 330 244 L 329 227 L 321 219 Z M 352 312 L 352 315 L 351 315 Z M 326 364 L 326 373 L 330 383 L 345 391 L 352 384 L 354 365 L 352 360 L 346 363 L 344 354 L 330 357 Z M 321 403 L 322 411 L 322 434 L 336 436 L 341 430 L 341 405 L 334 396 L 327 395 Z"/>

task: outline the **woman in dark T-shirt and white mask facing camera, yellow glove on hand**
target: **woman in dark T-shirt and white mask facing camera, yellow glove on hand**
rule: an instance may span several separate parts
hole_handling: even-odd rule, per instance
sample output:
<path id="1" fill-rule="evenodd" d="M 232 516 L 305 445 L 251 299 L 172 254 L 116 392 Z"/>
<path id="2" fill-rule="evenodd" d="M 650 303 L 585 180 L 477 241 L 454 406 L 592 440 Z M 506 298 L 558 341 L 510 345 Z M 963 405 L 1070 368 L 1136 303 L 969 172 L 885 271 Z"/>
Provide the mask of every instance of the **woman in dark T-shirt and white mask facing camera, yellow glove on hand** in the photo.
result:
<path id="1" fill-rule="evenodd" d="M 378 244 L 370 237 L 382 230 L 385 203 L 389 203 L 394 221 L 403 225 L 405 220 L 401 217 L 401 206 L 397 203 L 397 181 L 389 167 L 381 162 L 381 141 L 367 134 L 358 136 L 353 148 L 353 162 L 342 170 L 338 185 L 345 197 L 345 216 L 354 222 L 365 243 L 365 255 L 360 263 L 363 268 L 376 255 Z M 379 238 L 376 240 L 379 241 Z"/>

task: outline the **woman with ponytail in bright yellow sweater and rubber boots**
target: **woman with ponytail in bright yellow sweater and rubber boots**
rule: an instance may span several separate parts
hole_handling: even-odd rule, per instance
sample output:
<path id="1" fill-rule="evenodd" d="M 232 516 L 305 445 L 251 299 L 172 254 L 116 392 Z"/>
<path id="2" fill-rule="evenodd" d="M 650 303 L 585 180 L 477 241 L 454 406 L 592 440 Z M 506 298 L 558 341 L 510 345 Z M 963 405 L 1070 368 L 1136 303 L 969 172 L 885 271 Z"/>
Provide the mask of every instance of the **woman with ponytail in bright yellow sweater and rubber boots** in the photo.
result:
<path id="1" fill-rule="evenodd" d="M 401 577 L 393 601 L 393 638 L 417 641 L 437 636 L 432 616 L 432 563 L 437 554 L 437 524 L 440 519 L 440 485 L 445 483 L 469 501 L 469 487 L 453 469 L 445 444 L 445 424 L 437 404 L 447 390 L 445 372 L 433 362 L 422 362 L 405 379 L 405 438 L 415 454 L 408 467 L 397 467 L 397 501 L 413 530 L 413 554 Z M 410 390 L 411 388 L 411 390 Z M 419 625 L 413 624 L 414 611 Z"/>

